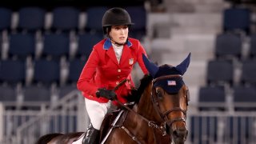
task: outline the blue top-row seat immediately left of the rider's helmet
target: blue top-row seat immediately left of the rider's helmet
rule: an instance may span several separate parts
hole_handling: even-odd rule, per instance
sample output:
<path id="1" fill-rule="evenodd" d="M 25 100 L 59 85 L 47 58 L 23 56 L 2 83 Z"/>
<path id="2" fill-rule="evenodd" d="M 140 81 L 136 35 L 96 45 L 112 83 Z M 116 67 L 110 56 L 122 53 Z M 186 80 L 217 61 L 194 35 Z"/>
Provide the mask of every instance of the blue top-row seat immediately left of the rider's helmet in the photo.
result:
<path id="1" fill-rule="evenodd" d="M 108 8 L 106 6 L 94 6 L 86 10 L 86 30 L 103 34 L 102 17 Z"/>

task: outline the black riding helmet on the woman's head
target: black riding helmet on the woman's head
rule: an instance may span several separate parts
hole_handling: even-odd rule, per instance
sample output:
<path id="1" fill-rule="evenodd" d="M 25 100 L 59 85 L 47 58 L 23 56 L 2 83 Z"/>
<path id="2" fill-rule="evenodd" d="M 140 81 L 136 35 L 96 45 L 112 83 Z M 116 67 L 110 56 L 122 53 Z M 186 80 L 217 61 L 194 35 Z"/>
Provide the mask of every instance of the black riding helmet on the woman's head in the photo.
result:
<path id="1" fill-rule="evenodd" d="M 102 18 L 102 27 L 104 34 L 107 34 L 107 28 L 110 26 L 130 26 L 134 25 L 134 23 L 130 20 L 130 14 L 120 8 L 120 7 L 114 7 L 110 10 L 106 10 L 106 13 L 103 15 Z"/>

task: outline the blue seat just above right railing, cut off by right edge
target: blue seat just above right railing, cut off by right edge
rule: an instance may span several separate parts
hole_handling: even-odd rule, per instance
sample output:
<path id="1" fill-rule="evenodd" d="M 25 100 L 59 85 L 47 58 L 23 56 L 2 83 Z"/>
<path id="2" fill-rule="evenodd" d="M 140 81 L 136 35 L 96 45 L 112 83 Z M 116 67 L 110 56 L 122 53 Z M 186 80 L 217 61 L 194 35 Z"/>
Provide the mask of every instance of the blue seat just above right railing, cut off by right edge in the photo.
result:
<path id="1" fill-rule="evenodd" d="M 256 88 L 254 86 L 234 86 L 234 110 L 256 110 Z"/>

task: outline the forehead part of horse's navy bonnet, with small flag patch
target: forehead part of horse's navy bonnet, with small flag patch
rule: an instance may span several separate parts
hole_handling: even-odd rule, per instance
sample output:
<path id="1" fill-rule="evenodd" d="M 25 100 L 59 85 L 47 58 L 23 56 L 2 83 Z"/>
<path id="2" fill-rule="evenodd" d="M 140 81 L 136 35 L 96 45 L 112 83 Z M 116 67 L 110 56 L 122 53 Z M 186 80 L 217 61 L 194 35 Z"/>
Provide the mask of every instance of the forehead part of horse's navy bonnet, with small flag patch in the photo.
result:
<path id="1" fill-rule="evenodd" d="M 174 66 L 162 65 L 159 66 L 158 72 L 157 74 L 155 74 L 155 78 L 174 74 L 181 75 L 181 72 L 178 71 Z M 160 86 L 163 90 L 166 90 L 167 93 L 176 94 L 178 93 L 178 90 L 182 88 L 183 84 L 184 82 L 182 80 L 182 77 L 174 77 L 158 80 L 157 82 L 154 82 L 153 86 Z"/>

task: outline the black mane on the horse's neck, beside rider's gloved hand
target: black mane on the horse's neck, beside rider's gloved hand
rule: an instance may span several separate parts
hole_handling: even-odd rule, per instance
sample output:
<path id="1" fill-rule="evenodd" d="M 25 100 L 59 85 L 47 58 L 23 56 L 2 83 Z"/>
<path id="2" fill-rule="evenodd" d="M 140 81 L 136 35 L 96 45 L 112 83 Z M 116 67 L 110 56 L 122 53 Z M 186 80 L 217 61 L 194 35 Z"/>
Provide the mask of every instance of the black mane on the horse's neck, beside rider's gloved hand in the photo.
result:
<path id="1" fill-rule="evenodd" d="M 152 81 L 152 76 L 146 74 L 143 76 L 143 78 L 140 80 L 140 86 L 138 86 L 138 89 L 131 90 L 131 93 L 125 97 L 127 102 L 135 102 L 138 104 L 139 99 L 141 98 L 144 90 L 146 89 L 146 86 Z"/>

